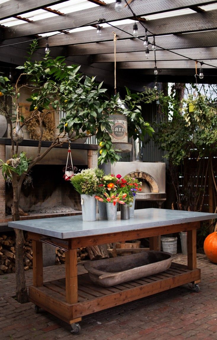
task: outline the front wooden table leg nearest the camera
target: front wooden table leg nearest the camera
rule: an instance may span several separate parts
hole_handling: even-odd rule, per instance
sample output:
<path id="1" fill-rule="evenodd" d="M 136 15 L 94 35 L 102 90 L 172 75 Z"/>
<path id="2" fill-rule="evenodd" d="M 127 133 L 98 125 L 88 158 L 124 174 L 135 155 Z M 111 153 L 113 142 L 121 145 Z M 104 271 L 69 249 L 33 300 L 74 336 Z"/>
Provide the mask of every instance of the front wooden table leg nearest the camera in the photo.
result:
<path id="1" fill-rule="evenodd" d="M 77 248 L 72 248 L 72 240 L 69 239 L 69 250 L 66 252 L 66 302 L 73 304 L 77 301 Z"/>

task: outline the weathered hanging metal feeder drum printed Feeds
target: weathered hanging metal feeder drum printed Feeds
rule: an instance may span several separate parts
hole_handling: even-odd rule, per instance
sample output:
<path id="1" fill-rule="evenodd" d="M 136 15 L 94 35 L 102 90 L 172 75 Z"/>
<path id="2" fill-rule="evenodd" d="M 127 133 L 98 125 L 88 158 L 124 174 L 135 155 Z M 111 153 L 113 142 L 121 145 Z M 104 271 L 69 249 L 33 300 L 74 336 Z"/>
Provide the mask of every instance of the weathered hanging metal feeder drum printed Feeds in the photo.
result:
<path id="1" fill-rule="evenodd" d="M 130 152 L 132 144 L 128 143 L 127 117 L 124 115 L 110 115 L 109 120 L 112 122 L 111 141 L 114 149 L 121 150 L 121 152 Z"/>

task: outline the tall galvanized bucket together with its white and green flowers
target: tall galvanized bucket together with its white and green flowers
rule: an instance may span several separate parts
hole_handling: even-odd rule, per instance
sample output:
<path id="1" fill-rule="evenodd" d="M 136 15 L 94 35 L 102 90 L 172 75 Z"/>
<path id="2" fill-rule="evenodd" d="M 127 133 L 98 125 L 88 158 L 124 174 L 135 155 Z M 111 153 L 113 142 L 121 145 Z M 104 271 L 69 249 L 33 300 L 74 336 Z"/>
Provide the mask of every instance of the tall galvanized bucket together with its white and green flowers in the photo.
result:
<path id="1" fill-rule="evenodd" d="M 84 169 L 71 178 L 71 183 L 81 197 L 83 221 L 96 220 L 95 195 L 104 191 L 103 187 L 100 186 L 100 178 L 103 174 L 103 170 L 91 168 Z"/>

